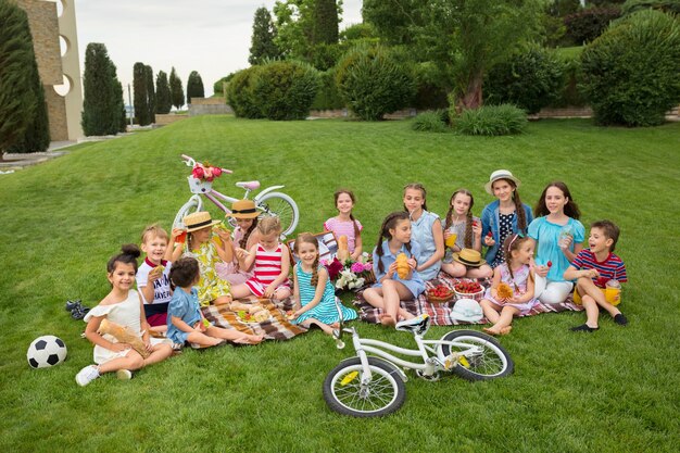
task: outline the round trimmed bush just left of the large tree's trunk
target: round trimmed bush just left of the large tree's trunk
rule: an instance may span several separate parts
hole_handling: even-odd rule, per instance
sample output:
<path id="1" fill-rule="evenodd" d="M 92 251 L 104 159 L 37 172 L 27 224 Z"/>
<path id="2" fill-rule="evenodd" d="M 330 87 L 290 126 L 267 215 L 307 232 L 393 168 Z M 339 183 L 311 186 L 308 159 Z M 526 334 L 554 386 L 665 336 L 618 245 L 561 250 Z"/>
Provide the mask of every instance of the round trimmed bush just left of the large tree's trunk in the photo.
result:
<path id="1" fill-rule="evenodd" d="M 356 48 L 338 63 L 338 89 L 362 119 L 377 121 L 404 108 L 413 98 L 414 77 L 382 48 Z"/>

